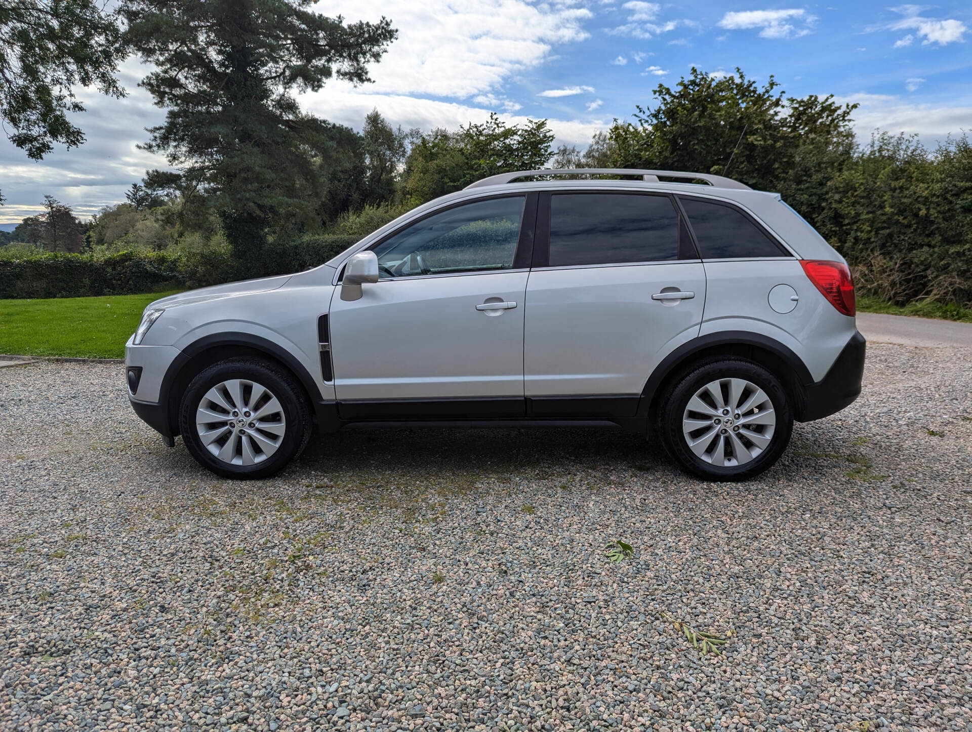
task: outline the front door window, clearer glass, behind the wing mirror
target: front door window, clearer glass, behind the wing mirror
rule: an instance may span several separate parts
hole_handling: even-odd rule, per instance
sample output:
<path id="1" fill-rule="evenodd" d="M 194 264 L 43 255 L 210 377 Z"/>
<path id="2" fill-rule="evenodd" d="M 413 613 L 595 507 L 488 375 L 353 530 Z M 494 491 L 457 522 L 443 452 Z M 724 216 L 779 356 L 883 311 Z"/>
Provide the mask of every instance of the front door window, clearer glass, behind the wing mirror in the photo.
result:
<path id="1" fill-rule="evenodd" d="M 414 277 L 513 266 L 526 196 L 456 206 L 374 248 L 381 277 Z"/>

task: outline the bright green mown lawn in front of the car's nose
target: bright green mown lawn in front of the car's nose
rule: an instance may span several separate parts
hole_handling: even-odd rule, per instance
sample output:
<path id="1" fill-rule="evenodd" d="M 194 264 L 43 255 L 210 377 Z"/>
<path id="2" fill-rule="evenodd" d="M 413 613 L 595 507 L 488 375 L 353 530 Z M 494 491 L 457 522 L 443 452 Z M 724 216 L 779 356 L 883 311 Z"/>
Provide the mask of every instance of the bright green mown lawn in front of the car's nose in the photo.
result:
<path id="1" fill-rule="evenodd" d="M 178 292 L 0 299 L 0 353 L 121 359 L 145 306 Z"/>

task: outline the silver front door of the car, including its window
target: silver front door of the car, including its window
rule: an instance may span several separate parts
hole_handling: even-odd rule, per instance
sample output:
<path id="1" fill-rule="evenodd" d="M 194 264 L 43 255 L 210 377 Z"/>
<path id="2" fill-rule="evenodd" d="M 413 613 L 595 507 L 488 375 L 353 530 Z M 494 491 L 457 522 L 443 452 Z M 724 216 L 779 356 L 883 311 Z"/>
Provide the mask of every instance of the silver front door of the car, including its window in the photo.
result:
<path id="1" fill-rule="evenodd" d="M 379 281 L 365 284 L 360 299 L 331 299 L 343 418 L 523 414 L 527 198 L 461 204 L 372 247 Z"/>

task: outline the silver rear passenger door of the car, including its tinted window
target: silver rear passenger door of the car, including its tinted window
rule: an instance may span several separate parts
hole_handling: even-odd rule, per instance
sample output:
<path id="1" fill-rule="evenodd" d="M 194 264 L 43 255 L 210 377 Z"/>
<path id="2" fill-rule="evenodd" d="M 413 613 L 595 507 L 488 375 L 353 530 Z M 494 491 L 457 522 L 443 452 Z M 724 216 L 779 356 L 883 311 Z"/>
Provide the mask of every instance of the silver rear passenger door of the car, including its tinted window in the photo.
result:
<path id="1" fill-rule="evenodd" d="M 651 371 L 702 323 L 705 269 L 674 198 L 543 193 L 537 230 L 524 331 L 528 408 L 633 416 Z"/>

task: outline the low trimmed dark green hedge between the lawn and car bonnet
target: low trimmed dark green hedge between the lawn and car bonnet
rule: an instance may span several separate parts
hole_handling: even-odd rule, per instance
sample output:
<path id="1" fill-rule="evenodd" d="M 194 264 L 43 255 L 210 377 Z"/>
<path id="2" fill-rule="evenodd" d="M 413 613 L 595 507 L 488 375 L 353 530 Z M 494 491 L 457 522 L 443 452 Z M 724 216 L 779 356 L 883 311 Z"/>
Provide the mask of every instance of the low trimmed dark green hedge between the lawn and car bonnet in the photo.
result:
<path id="1" fill-rule="evenodd" d="M 330 260 L 357 241 L 356 236 L 304 236 L 278 242 L 267 248 L 260 271 L 233 260 L 222 247 L 177 254 L 43 254 L 0 260 L 0 298 L 135 295 L 207 287 L 299 272 Z"/>

